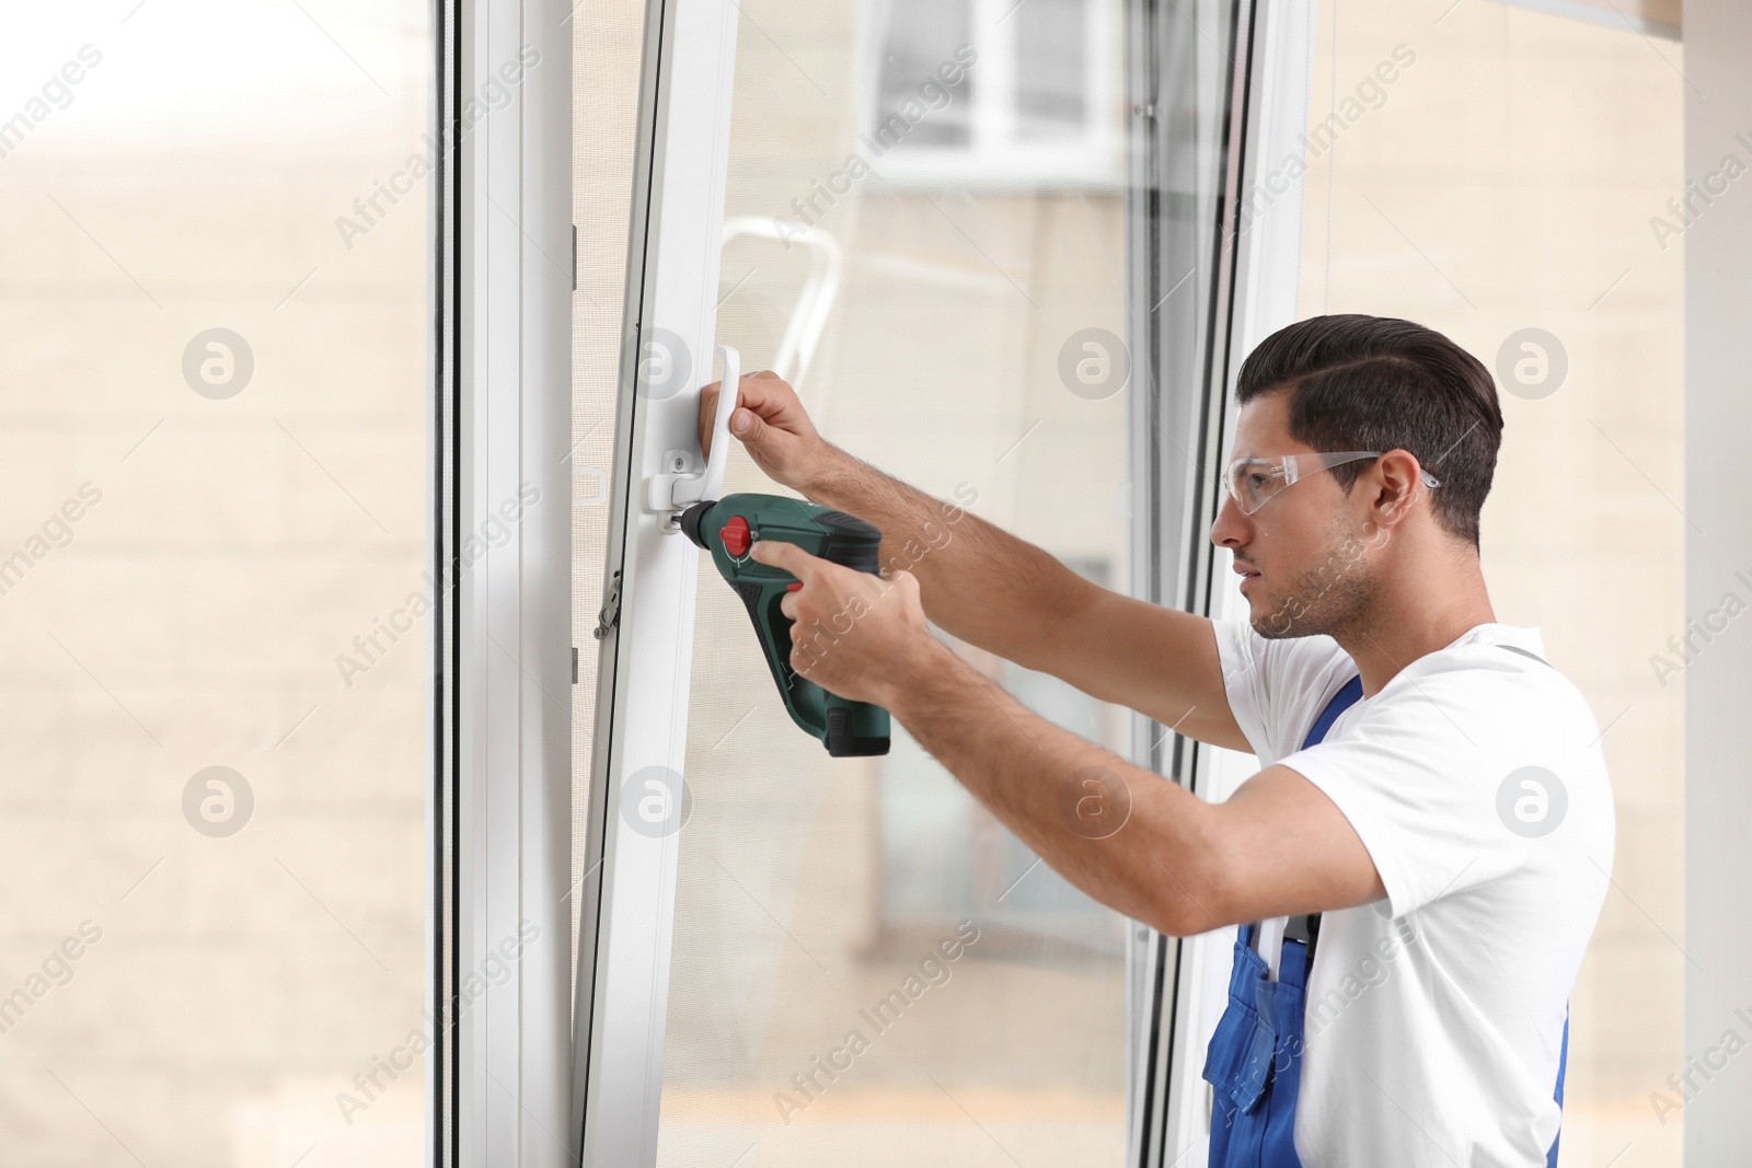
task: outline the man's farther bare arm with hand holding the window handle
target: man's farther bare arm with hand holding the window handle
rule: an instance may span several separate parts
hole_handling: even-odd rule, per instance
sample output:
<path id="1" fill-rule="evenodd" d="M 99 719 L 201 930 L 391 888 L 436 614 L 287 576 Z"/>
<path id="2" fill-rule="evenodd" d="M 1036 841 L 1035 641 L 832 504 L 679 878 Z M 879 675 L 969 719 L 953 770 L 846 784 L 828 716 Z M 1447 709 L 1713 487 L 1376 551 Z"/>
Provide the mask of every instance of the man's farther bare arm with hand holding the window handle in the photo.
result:
<path id="1" fill-rule="evenodd" d="M 701 441 L 718 389 L 701 394 Z M 920 583 L 925 615 L 946 632 L 1090 697 L 1188 737 L 1251 751 L 1228 707 L 1216 636 L 1204 616 L 1134 601 L 823 440 L 795 391 L 773 375 L 741 382 L 732 434 L 771 478 L 883 532 L 881 564 Z M 745 412 L 752 427 L 736 431 Z"/>

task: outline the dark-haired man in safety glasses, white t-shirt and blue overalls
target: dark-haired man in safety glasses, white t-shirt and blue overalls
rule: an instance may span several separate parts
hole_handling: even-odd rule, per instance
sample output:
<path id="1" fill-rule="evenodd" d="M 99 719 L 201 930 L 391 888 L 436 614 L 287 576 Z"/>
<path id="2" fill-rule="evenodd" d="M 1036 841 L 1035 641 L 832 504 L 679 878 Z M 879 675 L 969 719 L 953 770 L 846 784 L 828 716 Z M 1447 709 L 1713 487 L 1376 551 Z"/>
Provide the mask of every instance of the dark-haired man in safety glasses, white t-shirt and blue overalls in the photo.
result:
<path id="1" fill-rule="evenodd" d="M 1496 387 L 1431 329 L 1332 315 L 1267 338 L 1237 398 L 1211 539 L 1249 620 L 1102 590 L 965 515 L 885 578 L 757 541 L 802 581 L 792 667 L 885 706 L 1090 897 L 1239 937 L 1205 1065 L 1212 1163 L 1544 1164 L 1614 813 L 1587 702 L 1486 594 Z M 941 531 L 943 504 L 827 443 L 769 373 L 741 382 L 731 431 L 780 483 L 876 524 L 885 562 Z M 927 616 L 1263 769 L 1205 802 L 1035 716 Z M 1244 1161 L 1242 1140 L 1265 1150 Z"/>

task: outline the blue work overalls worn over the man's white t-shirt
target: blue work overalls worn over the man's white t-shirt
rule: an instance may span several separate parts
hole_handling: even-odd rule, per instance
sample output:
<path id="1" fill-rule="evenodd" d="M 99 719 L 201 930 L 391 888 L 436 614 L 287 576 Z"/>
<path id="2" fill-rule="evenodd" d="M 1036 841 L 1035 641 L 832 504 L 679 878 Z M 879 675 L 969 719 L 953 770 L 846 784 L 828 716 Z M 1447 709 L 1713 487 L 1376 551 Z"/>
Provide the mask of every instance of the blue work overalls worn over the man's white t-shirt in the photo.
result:
<path id="1" fill-rule="evenodd" d="M 1363 697 L 1363 679 L 1351 678 L 1314 720 L 1302 749 L 1321 742 L 1332 723 Z M 1309 914 L 1309 939 L 1284 937 L 1277 981 L 1267 977 L 1265 958 L 1253 951 L 1260 925 L 1235 937 L 1235 965 L 1228 975 L 1228 1009 L 1211 1035 L 1204 1077 L 1211 1103 L 1211 1168 L 1302 1168 L 1296 1157 L 1296 1093 L 1302 1087 L 1302 1014 L 1307 1000 L 1312 946 L 1319 914 Z M 1563 1019 L 1558 1056 L 1558 1107 L 1563 1107 L 1563 1072 L 1570 1061 L 1570 1019 Z M 1547 1168 L 1558 1168 L 1558 1140 Z"/>

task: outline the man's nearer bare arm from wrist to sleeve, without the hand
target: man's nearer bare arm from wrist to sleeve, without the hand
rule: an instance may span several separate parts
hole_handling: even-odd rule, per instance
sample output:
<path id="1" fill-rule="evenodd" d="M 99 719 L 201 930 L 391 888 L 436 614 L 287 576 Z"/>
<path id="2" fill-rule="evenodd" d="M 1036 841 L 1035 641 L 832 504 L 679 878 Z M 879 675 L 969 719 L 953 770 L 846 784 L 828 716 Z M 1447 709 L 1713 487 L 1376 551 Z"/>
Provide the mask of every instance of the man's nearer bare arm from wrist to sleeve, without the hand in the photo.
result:
<path id="1" fill-rule="evenodd" d="M 1207 804 L 1044 718 L 948 646 L 885 702 L 967 790 L 1095 900 L 1174 937 L 1386 895 L 1351 821 L 1289 767 Z M 999 716 L 1002 714 L 1002 716 Z"/>

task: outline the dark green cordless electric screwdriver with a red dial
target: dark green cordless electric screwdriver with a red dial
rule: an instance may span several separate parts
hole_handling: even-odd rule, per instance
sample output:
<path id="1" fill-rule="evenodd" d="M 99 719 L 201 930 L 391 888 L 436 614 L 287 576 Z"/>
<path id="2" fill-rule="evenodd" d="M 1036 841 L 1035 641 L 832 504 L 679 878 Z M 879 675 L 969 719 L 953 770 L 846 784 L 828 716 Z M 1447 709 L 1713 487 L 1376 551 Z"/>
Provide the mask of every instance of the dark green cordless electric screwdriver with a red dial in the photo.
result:
<path id="1" fill-rule="evenodd" d="M 718 574 L 743 597 L 792 721 L 822 739 L 836 758 L 887 755 L 887 709 L 829 693 L 790 667 L 795 622 L 780 611 L 780 601 L 797 578 L 748 553 L 755 539 L 778 539 L 834 564 L 880 573 L 881 531 L 844 511 L 753 492 L 696 503 L 682 511 L 680 524 L 689 539 L 711 552 Z"/>

